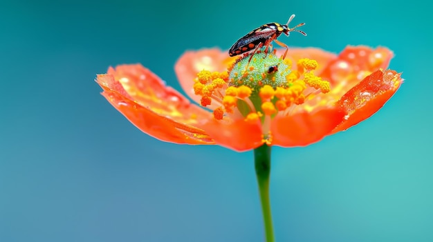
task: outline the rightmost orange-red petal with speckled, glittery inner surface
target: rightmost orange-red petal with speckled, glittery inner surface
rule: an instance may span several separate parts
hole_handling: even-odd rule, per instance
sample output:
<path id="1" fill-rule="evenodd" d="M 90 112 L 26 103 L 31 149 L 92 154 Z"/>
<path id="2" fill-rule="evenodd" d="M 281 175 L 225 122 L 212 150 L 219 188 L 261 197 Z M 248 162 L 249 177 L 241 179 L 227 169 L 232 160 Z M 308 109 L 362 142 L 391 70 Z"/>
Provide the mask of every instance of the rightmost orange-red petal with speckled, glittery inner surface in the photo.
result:
<path id="1" fill-rule="evenodd" d="M 400 88 L 403 79 L 394 70 L 378 70 L 366 77 L 336 103 L 347 113 L 333 133 L 347 130 L 377 112 Z"/>

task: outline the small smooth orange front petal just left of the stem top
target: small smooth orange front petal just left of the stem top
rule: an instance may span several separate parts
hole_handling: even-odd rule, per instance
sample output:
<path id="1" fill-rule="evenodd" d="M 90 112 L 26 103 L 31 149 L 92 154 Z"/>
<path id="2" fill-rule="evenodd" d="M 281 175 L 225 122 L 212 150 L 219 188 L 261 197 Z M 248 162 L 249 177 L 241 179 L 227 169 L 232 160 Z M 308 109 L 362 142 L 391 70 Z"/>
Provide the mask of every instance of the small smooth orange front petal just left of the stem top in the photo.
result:
<path id="1" fill-rule="evenodd" d="M 201 125 L 214 141 L 225 148 L 246 151 L 259 147 L 264 142 L 261 137 L 261 124 L 237 120 L 233 123 L 223 123 L 212 120 Z"/>

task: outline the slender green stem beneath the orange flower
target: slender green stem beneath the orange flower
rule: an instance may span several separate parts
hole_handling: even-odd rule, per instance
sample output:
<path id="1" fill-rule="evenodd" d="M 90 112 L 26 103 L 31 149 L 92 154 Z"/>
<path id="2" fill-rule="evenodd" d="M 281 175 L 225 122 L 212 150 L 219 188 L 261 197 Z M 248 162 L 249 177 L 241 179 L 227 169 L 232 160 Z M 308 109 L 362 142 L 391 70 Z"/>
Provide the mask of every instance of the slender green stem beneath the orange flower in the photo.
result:
<path id="1" fill-rule="evenodd" d="M 266 242 L 274 242 L 272 214 L 270 212 L 269 201 L 270 146 L 264 143 L 260 147 L 255 148 L 254 161 L 257 183 L 259 183 L 261 211 L 263 212 Z"/>

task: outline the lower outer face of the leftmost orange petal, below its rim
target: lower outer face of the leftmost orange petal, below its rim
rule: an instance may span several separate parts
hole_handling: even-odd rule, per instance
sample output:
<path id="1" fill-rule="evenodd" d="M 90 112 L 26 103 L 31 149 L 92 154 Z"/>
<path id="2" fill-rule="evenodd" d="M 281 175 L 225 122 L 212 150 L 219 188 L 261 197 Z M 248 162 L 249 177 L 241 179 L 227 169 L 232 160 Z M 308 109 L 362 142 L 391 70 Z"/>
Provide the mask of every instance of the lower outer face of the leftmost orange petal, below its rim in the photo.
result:
<path id="1" fill-rule="evenodd" d="M 214 144 L 214 141 L 203 130 L 160 116 L 118 92 L 104 90 L 102 95 L 133 125 L 151 137 L 170 143 Z"/>

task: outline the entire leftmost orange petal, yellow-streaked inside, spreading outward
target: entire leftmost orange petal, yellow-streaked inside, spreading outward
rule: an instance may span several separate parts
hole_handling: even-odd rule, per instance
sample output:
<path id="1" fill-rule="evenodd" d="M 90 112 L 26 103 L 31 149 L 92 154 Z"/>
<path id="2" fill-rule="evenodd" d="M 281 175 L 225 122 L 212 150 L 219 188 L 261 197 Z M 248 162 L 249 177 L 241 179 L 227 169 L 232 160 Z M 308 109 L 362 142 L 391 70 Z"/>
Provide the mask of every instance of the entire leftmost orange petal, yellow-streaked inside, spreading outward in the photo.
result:
<path id="1" fill-rule="evenodd" d="M 173 143 L 214 143 L 198 123 L 212 119 L 142 65 L 120 65 L 96 81 L 110 103 L 143 132 Z"/>

